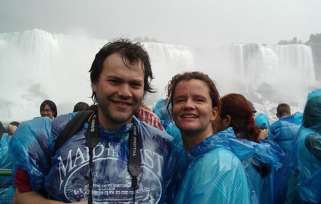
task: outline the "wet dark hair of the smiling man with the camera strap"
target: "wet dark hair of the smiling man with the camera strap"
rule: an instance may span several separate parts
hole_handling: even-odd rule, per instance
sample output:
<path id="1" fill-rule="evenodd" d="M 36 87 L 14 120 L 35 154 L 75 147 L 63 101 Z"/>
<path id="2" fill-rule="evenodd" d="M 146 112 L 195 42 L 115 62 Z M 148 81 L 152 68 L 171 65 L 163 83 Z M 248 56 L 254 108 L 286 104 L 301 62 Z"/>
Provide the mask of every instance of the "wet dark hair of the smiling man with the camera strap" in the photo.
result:
<path id="1" fill-rule="evenodd" d="M 145 73 L 144 97 L 146 96 L 146 92 L 156 92 L 151 86 L 151 80 L 154 79 L 154 76 L 151 70 L 150 59 L 147 51 L 139 42 L 132 43 L 128 39 L 116 39 L 114 41 L 110 41 L 99 50 L 89 70 L 91 86 L 94 82 L 99 80 L 104 60 L 114 53 L 118 53 L 122 57 L 123 62 L 127 67 L 126 58 L 129 59 L 130 64 L 135 64 L 141 61 L 142 70 Z M 96 104 L 96 93 L 94 91 L 91 98 L 93 99 L 94 104 Z"/>

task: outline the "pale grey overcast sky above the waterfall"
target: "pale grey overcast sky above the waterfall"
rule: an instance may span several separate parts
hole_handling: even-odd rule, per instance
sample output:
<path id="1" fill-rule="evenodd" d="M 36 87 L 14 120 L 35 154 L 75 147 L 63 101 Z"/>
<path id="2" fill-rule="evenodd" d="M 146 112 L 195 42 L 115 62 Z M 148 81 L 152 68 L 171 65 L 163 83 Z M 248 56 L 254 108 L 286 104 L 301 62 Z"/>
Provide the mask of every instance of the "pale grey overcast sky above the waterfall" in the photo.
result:
<path id="1" fill-rule="evenodd" d="M 30 29 L 182 45 L 306 42 L 321 33 L 321 1 L 0 0 L 0 32 Z"/>

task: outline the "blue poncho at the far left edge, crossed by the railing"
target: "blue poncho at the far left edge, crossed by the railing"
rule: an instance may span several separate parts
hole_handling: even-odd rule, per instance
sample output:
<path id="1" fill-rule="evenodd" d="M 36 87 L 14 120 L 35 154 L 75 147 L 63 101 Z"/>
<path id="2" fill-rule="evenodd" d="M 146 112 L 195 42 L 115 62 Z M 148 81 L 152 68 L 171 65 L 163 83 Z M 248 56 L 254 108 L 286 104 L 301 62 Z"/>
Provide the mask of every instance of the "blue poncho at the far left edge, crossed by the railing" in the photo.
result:
<path id="1" fill-rule="evenodd" d="M 0 139 L 0 169 L 11 169 L 9 141 L 10 136 L 3 135 Z M 15 191 L 13 177 L 0 176 L 0 203 L 12 200 Z"/>

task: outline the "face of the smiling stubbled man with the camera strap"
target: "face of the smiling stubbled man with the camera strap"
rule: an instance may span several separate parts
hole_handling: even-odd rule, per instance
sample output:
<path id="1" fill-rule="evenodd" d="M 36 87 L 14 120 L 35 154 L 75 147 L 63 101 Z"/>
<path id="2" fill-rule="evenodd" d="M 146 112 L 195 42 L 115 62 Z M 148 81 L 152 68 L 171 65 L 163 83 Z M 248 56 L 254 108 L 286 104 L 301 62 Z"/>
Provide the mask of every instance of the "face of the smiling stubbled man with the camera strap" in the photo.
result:
<path id="1" fill-rule="evenodd" d="M 96 92 L 99 123 L 105 129 L 119 129 L 129 123 L 136 113 L 144 95 L 142 63 L 130 64 L 118 53 L 108 56 L 104 62 L 98 81 L 93 82 Z"/>

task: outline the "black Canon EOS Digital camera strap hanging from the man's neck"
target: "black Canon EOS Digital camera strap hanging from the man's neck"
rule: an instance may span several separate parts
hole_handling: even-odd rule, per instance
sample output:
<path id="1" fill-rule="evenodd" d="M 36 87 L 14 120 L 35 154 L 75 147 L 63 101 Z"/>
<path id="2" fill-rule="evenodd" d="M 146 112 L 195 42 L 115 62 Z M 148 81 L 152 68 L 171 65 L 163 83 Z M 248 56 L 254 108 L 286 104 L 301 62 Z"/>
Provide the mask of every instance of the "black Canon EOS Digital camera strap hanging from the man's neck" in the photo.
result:
<path id="1" fill-rule="evenodd" d="M 89 195 L 88 195 L 88 203 L 93 203 L 92 198 L 92 163 L 93 163 L 93 149 L 99 142 L 99 130 L 98 130 L 98 114 L 97 111 L 91 116 L 88 132 L 87 132 L 87 139 L 86 139 L 86 146 L 89 148 Z M 131 187 L 134 187 L 134 194 L 133 194 L 133 202 L 135 203 L 135 187 L 138 186 L 137 176 L 141 172 L 141 162 L 140 162 L 140 147 L 139 147 L 139 129 L 137 122 L 132 120 L 132 130 L 129 133 L 129 165 L 128 171 L 131 174 Z"/>

